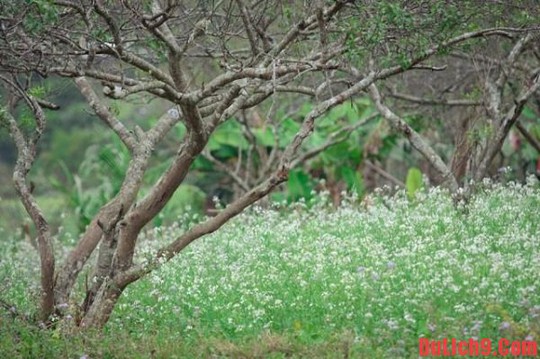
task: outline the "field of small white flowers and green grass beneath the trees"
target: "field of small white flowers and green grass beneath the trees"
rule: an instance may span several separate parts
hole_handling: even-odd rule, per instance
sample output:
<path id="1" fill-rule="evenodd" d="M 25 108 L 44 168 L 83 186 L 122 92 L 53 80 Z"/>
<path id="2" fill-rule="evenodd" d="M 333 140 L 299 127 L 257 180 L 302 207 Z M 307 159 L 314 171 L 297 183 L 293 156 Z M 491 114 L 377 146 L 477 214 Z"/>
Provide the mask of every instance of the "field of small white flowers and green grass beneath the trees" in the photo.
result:
<path id="1" fill-rule="evenodd" d="M 102 334 L 4 314 L 0 357 L 407 358 L 422 336 L 539 340 L 537 184 L 486 185 L 460 208 L 436 189 L 319 202 L 254 209 L 194 243 L 130 286 Z M 138 260 L 180 232 L 148 232 Z M 36 259 L 10 248 L 0 298 L 31 312 Z"/>

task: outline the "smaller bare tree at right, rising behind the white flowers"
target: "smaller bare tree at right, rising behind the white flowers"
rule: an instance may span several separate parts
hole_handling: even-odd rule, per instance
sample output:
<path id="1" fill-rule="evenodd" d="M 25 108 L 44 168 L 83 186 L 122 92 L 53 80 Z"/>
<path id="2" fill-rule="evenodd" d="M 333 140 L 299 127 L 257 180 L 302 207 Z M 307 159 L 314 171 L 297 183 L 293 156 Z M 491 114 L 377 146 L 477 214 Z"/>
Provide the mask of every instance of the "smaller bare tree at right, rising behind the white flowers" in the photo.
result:
<path id="1" fill-rule="evenodd" d="M 435 168 L 439 180 L 453 191 L 467 186 L 468 180 L 478 182 L 489 174 L 514 125 L 520 132 L 526 131 L 519 119 L 525 104 L 540 88 L 540 32 L 532 29 L 507 33 L 503 39 L 487 42 L 474 53 L 454 51 L 439 58 L 438 63 L 444 66 L 431 68 L 440 73 L 437 76 L 408 73 L 405 81 L 395 81 L 383 92 L 394 99 L 394 111 L 384 104 L 377 87 L 370 87 L 380 113 L 409 139 Z M 398 91 L 397 87 L 406 89 L 407 93 Z M 471 93 L 475 94 L 474 98 Z M 404 104 L 408 105 L 408 113 L 413 105 L 415 112 L 423 116 L 448 121 L 445 130 L 453 133 L 449 163 L 436 153 L 428 138 L 396 114 L 404 110 Z M 528 133 L 525 136 L 534 146 L 536 140 Z"/>

